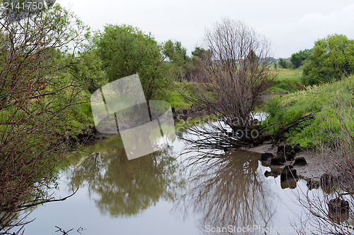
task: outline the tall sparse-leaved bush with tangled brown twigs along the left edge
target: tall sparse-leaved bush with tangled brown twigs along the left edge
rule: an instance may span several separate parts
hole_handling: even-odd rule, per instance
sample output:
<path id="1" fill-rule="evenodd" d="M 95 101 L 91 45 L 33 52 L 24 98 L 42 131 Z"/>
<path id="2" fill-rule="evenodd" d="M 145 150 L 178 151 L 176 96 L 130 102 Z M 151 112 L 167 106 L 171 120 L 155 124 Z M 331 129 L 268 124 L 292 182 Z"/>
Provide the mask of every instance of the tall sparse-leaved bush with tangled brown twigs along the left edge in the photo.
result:
<path id="1" fill-rule="evenodd" d="M 81 92 L 64 71 L 84 32 L 59 5 L 17 20 L 0 11 L 0 234 L 25 224 L 14 212 L 54 199 L 47 189 L 68 150 L 68 108 Z"/>

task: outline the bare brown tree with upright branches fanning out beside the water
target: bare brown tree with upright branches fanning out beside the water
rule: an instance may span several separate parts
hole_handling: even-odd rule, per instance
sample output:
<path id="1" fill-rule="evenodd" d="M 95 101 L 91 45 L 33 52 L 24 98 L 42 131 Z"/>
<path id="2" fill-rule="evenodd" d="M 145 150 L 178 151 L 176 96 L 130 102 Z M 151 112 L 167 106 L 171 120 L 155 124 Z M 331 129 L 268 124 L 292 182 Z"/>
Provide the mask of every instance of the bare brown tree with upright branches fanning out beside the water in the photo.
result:
<path id="1" fill-rule="evenodd" d="M 273 80 L 268 61 L 270 43 L 241 21 L 224 19 L 207 30 L 205 45 L 200 73 L 193 76 L 194 85 L 182 95 L 217 115 L 239 137 L 254 124 L 251 113 Z M 208 131 L 223 132 L 224 127 L 215 126 Z"/>

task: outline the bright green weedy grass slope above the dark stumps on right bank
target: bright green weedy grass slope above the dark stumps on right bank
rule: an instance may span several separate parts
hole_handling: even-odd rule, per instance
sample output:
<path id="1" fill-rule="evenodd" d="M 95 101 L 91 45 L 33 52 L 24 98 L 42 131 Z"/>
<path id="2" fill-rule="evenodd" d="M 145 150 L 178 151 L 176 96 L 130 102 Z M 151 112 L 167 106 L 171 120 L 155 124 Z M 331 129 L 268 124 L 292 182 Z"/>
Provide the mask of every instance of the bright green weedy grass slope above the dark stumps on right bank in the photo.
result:
<path id="1" fill-rule="evenodd" d="M 335 83 L 307 86 L 298 92 L 273 97 L 265 103 L 266 112 L 270 114 L 268 131 L 273 133 L 287 123 L 316 112 L 304 128 L 290 132 L 287 140 L 302 147 L 336 146 L 345 138 L 343 131 L 354 131 L 353 95 L 354 77 L 350 76 Z"/>

